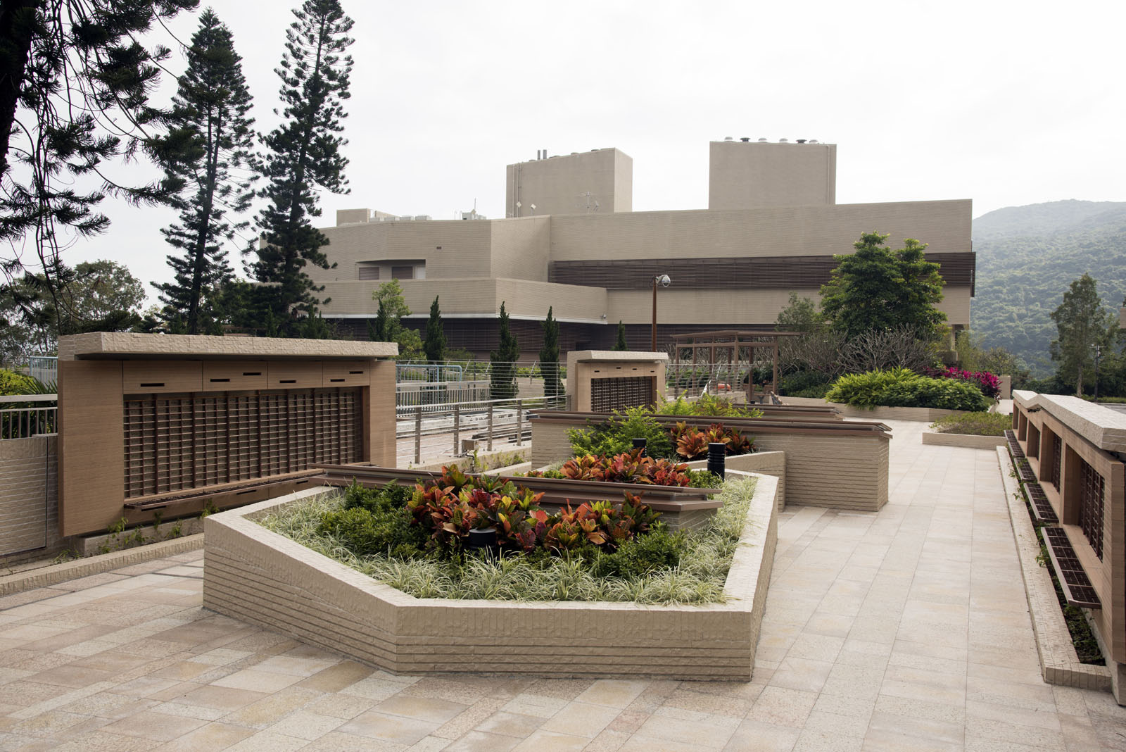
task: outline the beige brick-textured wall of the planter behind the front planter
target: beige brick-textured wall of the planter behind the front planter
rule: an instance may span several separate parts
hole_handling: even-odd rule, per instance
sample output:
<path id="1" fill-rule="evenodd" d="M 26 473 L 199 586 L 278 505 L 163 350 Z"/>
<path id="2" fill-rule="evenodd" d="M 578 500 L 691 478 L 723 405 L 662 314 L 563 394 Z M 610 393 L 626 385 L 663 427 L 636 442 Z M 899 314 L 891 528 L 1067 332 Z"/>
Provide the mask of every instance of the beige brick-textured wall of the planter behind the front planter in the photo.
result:
<path id="1" fill-rule="evenodd" d="M 533 467 L 571 456 L 568 430 L 599 420 L 582 415 L 561 418 L 545 411 L 530 421 Z M 757 420 L 760 426 L 754 424 Z M 886 431 L 850 430 L 855 423 L 830 419 L 794 421 L 790 426 L 766 419 L 723 419 L 723 422 L 731 426 L 738 422 L 741 431 L 754 437 L 760 453 L 785 453 L 786 503 L 873 512 L 887 503 L 890 435 Z"/>

